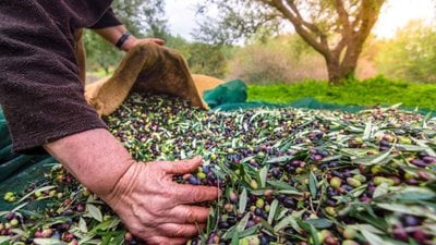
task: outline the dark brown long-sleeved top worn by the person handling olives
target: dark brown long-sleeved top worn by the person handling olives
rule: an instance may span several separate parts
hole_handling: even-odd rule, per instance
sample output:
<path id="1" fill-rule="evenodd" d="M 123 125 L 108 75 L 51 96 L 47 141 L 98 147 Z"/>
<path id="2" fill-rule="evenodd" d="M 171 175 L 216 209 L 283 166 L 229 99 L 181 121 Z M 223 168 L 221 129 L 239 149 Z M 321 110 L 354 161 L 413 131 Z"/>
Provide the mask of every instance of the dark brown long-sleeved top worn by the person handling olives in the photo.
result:
<path id="1" fill-rule="evenodd" d="M 120 25 L 111 0 L 0 0 L 0 103 L 13 150 L 107 127 L 86 103 L 74 32 Z"/>

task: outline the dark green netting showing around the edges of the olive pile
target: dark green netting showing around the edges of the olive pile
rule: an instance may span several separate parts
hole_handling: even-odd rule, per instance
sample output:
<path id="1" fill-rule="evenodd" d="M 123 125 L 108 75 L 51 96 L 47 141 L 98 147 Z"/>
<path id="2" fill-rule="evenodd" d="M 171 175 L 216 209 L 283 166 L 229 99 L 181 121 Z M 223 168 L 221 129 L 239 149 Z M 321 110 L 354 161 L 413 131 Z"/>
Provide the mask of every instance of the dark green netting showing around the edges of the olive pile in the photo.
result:
<path id="1" fill-rule="evenodd" d="M 275 105 L 263 101 L 246 101 L 247 87 L 240 81 L 230 81 L 215 89 L 207 90 L 204 94 L 204 100 L 209 108 L 214 110 L 246 110 L 253 108 L 280 108 L 294 107 L 305 109 L 320 110 L 341 110 L 347 112 L 358 112 L 365 107 L 361 106 L 341 106 L 335 103 L 319 102 L 313 98 L 303 98 L 291 103 Z M 412 111 L 410 108 L 402 108 Z M 416 112 L 436 115 L 435 112 L 417 110 Z M 56 162 L 50 156 L 26 156 L 12 154 L 12 143 L 9 135 L 7 122 L 0 108 L 0 210 L 8 210 L 9 205 L 2 200 L 7 192 L 20 192 L 29 183 L 37 182 L 49 171 L 51 163 Z"/>

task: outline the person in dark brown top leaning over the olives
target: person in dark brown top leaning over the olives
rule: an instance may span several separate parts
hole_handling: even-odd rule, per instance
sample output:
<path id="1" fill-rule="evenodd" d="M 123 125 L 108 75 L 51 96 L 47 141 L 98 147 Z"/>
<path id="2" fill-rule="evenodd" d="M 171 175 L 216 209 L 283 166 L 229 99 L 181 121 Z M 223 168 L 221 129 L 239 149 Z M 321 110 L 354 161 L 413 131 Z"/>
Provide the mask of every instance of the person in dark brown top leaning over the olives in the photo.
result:
<path id="1" fill-rule="evenodd" d="M 216 199 L 211 186 L 172 182 L 192 172 L 196 157 L 137 162 L 84 98 L 75 34 L 92 28 L 124 50 L 137 39 L 110 8 L 111 0 L 0 0 L 0 103 L 15 152 L 46 150 L 147 244 L 184 244 L 204 226 Z"/>

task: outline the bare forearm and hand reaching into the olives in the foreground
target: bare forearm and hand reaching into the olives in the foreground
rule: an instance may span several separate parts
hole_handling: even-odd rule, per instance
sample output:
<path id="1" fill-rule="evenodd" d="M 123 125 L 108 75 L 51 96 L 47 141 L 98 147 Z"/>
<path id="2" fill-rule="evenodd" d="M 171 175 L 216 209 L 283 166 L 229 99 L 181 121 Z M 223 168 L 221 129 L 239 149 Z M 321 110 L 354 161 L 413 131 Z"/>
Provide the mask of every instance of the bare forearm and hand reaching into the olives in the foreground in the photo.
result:
<path id="1" fill-rule="evenodd" d="M 128 229 L 148 244 L 184 244 L 204 226 L 218 189 L 172 182 L 194 171 L 199 158 L 179 162 L 135 162 L 106 130 L 66 136 L 44 146 L 77 180 L 104 199 Z"/>

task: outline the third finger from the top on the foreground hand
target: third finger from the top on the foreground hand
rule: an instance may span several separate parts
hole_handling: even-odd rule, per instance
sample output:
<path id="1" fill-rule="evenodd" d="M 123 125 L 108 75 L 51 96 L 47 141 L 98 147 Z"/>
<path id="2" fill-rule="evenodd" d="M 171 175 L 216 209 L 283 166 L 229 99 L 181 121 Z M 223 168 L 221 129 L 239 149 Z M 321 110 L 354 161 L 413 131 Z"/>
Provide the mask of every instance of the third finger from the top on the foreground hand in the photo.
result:
<path id="1" fill-rule="evenodd" d="M 178 223 L 205 223 L 209 217 L 209 208 L 179 205 L 169 212 L 169 216 Z"/>

